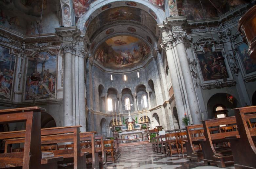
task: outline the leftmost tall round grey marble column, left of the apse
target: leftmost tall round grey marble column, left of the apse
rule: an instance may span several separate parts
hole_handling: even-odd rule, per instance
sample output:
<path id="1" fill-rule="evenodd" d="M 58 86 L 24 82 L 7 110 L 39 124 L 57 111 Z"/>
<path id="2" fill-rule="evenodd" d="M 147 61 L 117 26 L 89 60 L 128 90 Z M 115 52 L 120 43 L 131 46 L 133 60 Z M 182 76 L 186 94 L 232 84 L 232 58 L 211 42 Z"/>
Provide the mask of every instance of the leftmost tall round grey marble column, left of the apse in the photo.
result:
<path id="1" fill-rule="evenodd" d="M 72 70 L 72 53 L 73 46 L 71 44 L 66 45 L 63 48 L 64 54 L 64 79 L 63 79 L 63 126 L 73 125 L 73 70 Z"/>

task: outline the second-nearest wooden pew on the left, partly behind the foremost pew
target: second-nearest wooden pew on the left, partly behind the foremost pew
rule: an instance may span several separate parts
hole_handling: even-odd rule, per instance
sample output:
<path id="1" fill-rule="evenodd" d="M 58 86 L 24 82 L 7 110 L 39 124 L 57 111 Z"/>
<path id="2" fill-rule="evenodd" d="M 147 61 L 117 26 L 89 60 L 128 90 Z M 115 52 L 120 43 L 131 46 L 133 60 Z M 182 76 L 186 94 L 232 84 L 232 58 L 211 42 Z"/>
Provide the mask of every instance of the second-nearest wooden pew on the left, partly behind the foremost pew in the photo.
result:
<path id="1" fill-rule="evenodd" d="M 46 152 L 54 153 L 55 157 L 63 157 L 63 161 L 59 163 L 74 163 L 74 168 L 85 168 L 85 155 L 87 152 L 81 152 L 79 141 L 79 128 L 81 126 L 68 126 L 68 127 L 54 127 L 41 129 L 41 142 L 42 144 L 57 144 L 65 142 L 73 142 L 72 149 L 63 150 L 50 150 Z M 17 133 L 10 132 L 9 138 L 15 138 L 19 134 L 18 139 L 5 140 L 5 152 L 7 152 L 7 145 L 14 143 L 24 143 L 24 131 Z"/>

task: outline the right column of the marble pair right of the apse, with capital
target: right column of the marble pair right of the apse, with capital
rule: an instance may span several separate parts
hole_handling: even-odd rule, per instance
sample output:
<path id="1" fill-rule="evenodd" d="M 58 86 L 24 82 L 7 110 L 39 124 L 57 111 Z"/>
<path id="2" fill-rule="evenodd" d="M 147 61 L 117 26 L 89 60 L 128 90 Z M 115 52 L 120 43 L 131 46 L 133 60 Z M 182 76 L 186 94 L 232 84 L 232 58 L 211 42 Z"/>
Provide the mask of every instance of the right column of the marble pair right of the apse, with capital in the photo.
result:
<path id="1" fill-rule="evenodd" d="M 180 60 L 181 71 L 185 82 L 185 89 L 187 91 L 188 104 L 193 120 L 193 124 L 202 123 L 202 115 L 199 109 L 198 100 L 195 92 L 194 82 L 192 74 L 189 68 L 187 52 L 184 42 L 187 40 L 186 31 L 173 32 L 174 41 L 176 43 L 176 49 Z"/>

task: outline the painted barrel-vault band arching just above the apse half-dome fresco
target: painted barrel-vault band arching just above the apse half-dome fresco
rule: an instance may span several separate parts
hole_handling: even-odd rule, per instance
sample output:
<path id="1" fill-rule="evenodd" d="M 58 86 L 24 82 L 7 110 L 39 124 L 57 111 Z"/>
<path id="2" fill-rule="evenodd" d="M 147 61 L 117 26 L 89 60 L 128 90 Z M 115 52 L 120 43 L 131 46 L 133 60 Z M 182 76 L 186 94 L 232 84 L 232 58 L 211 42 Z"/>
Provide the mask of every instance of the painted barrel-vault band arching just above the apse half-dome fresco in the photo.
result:
<path id="1" fill-rule="evenodd" d="M 131 21 L 140 23 L 148 27 L 152 32 L 155 32 L 157 22 L 146 11 L 134 7 L 115 7 L 105 10 L 95 17 L 89 24 L 85 26 L 88 37 L 91 39 L 98 28 L 103 28 L 105 25 L 119 21 Z M 129 32 L 136 32 L 134 28 L 128 28 Z"/>

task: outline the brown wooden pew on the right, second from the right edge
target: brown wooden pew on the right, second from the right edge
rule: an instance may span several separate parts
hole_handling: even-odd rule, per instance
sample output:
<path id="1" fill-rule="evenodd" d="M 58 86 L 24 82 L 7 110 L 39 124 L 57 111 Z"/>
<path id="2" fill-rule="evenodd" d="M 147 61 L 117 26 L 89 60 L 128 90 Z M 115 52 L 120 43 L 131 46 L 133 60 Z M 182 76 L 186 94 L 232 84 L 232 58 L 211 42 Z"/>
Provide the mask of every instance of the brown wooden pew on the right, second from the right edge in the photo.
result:
<path id="1" fill-rule="evenodd" d="M 202 145 L 202 151 L 204 156 L 204 162 L 206 164 L 215 163 L 218 167 L 225 167 L 227 163 L 233 164 L 233 156 L 230 147 L 218 147 L 214 148 L 216 143 L 226 142 L 225 137 L 236 136 L 238 131 L 230 131 L 225 133 L 211 133 L 209 127 L 218 127 L 219 125 L 233 125 L 236 124 L 234 116 L 210 119 L 203 121 L 205 139 L 200 139 Z"/>

